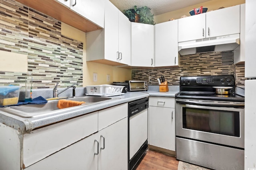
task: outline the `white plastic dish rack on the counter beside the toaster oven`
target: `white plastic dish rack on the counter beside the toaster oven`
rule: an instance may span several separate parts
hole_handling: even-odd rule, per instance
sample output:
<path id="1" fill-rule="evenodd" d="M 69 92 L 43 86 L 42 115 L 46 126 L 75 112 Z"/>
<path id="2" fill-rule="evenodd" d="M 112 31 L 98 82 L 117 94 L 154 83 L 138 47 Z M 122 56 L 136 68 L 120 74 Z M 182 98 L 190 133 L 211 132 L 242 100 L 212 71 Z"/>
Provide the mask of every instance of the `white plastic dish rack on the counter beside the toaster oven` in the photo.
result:
<path id="1" fill-rule="evenodd" d="M 86 86 L 86 95 L 91 96 L 118 96 L 122 95 L 125 86 L 114 86 L 108 84 Z"/>

